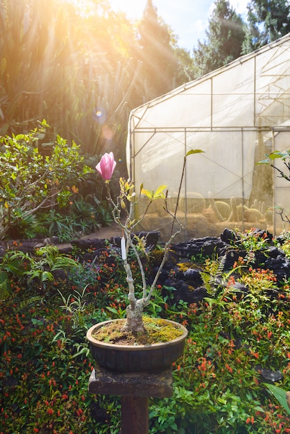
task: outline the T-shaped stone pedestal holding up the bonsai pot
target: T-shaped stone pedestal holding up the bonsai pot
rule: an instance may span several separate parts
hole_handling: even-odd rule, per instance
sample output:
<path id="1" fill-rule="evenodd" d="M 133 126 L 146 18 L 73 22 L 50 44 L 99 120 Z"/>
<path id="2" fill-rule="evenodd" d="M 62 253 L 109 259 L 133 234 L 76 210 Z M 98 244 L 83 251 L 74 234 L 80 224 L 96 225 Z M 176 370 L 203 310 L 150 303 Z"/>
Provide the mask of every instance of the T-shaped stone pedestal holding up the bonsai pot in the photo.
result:
<path id="1" fill-rule="evenodd" d="M 172 370 L 112 372 L 96 365 L 89 377 L 89 393 L 121 396 L 122 434 L 148 434 L 148 398 L 172 395 Z"/>

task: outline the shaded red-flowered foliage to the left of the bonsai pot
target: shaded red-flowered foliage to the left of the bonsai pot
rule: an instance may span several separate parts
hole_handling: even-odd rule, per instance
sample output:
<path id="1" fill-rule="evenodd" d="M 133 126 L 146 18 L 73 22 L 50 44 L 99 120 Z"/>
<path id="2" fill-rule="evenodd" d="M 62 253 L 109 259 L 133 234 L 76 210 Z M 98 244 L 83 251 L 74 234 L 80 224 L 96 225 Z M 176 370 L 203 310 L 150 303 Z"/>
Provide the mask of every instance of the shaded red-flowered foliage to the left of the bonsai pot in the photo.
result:
<path id="1" fill-rule="evenodd" d="M 92 361 L 76 336 L 53 340 L 56 327 L 69 333 L 69 315 L 49 298 L 19 308 L 22 297 L 13 300 L 15 308 L 1 306 L 1 431 L 94 433 L 94 397 L 87 396 Z"/>

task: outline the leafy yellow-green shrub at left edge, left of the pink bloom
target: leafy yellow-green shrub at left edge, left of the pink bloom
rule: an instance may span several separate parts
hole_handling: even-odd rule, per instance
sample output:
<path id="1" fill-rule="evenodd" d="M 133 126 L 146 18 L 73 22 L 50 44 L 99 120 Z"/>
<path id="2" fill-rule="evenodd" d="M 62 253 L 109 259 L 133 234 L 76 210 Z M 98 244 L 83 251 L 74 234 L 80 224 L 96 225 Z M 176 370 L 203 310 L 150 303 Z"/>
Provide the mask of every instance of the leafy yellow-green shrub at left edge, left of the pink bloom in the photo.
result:
<path id="1" fill-rule="evenodd" d="M 65 207 L 74 184 L 90 171 L 81 164 L 79 146 L 69 146 L 60 136 L 49 145 L 49 155 L 42 154 L 39 141 L 48 127 L 43 121 L 28 134 L 0 137 L 1 238 L 35 235 L 35 215 L 47 207 Z"/>

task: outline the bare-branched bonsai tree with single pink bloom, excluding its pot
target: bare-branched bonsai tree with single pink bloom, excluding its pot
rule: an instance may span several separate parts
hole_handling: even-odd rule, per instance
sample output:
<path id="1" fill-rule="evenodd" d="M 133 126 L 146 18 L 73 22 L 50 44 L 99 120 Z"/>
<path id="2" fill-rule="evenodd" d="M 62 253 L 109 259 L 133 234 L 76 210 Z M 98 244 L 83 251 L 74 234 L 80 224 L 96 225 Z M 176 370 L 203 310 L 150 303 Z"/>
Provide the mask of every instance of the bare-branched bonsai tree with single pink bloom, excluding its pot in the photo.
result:
<path id="1" fill-rule="evenodd" d="M 157 283 L 157 279 L 160 276 L 162 268 L 164 267 L 164 263 L 167 261 L 170 245 L 171 242 L 173 241 L 173 238 L 177 234 L 179 234 L 182 231 L 182 229 L 184 229 L 182 227 L 182 224 L 177 218 L 177 211 L 178 211 L 178 202 L 180 198 L 182 180 L 185 174 L 186 160 L 189 155 L 202 153 L 202 152 L 203 151 L 199 149 L 189 150 L 189 152 L 185 155 L 183 167 L 182 167 L 182 175 L 180 178 L 180 185 L 178 189 L 178 198 L 176 202 L 175 211 L 173 213 L 169 211 L 167 205 L 168 191 L 165 191 L 167 187 L 165 185 L 159 186 L 156 189 L 156 191 L 148 191 L 143 188 L 143 184 L 142 184 L 139 188 L 139 194 L 137 195 L 135 192 L 134 184 L 129 180 L 124 180 L 123 177 L 120 177 L 119 179 L 120 193 L 119 196 L 117 197 L 117 200 L 113 200 L 110 193 L 110 180 L 112 178 L 114 169 L 116 168 L 117 165 L 117 163 L 114 161 L 114 154 L 112 152 L 110 154 L 105 153 L 105 155 L 103 155 L 103 157 L 101 158 L 99 164 L 96 165 L 96 170 L 100 173 L 101 177 L 103 177 L 103 180 L 105 180 L 105 185 L 107 187 L 107 192 L 108 192 L 108 200 L 112 205 L 112 216 L 114 218 L 114 221 L 123 230 L 123 237 L 121 238 L 121 256 L 123 259 L 123 266 L 126 270 L 126 281 L 128 282 L 128 302 L 129 302 L 126 308 L 126 323 L 123 327 L 123 331 L 132 331 L 135 333 L 139 331 L 144 331 L 144 323 L 142 319 L 144 308 L 148 306 L 151 300 L 153 290 Z M 142 216 L 140 218 L 136 218 L 135 208 L 137 207 L 142 195 L 145 195 L 149 199 L 149 202 Z M 141 223 L 141 221 L 143 220 L 153 200 L 164 201 L 164 209 L 172 217 L 172 224 L 171 224 L 171 232 L 170 232 L 169 239 L 164 245 L 162 261 L 153 279 L 153 283 L 151 284 L 151 286 L 148 286 L 146 281 L 146 275 L 144 272 L 144 266 L 136 245 L 137 236 L 135 235 L 134 231 L 139 225 L 139 223 Z M 126 214 L 124 223 L 122 223 L 123 219 L 121 220 L 122 210 Z M 178 224 L 178 229 L 176 229 L 175 223 Z M 145 247 L 146 246 L 143 245 L 143 248 Z M 139 299 L 137 299 L 135 294 L 134 279 L 131 272 L 130 263 L 128 262 L 129 250 L 133 251 L 133 254 L 135 255 L 142 276 L 142 297 Z"/>

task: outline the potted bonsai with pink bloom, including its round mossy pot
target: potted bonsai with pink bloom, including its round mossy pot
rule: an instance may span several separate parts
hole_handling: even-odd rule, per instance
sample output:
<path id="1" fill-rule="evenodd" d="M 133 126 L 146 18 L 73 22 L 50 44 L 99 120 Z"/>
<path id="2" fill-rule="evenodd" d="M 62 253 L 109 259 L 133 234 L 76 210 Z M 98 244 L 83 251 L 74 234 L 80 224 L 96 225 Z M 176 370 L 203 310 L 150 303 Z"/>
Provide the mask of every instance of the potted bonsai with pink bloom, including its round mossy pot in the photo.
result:
<path id="1" fill-rule="evenodd" d="M 89 340 L 92 356 L 103 367 L 121 372 L 131 370 L 157 371 L 170 367 L 174 361 L 182 356 L 185 339 L 187 338 L 187 329 L 177 322 L 145 317 L 144 309 L 150 303 L 157 279 L 168 259 L 173 238 L 183 229 L 182 224 L 177 218 L 177 211 L 187 157 L 191 154 L 202 152 L 202 150 L 189 150 L 185 155 L 176 207 L 173 212 L 168 208 L 168 192 L 164 192 L 166 189 L 164 185 L 159 186 L 156 191 L 145 190 L 143 185 L 141 185 L 139 194 L 137 194 L 134 184 L 121 177 L 119 179 L 120 193 L 117 199 L 114 200 L 110 192 L 110 180 L 116 167 L 113 153 L 105 153 L 99 164 L 96 165 L 96 170 L 105 181 L 108 193 L 107 198 L 112 206 L 114 221 L 121 227 L 123 232 L 121 238 L 121 257 L 128 283 L 126 320 L 105 321 L 94 325 L 87 331 L 87 339 Z M 142 195 L 148 198 L 148 205 L 144 214 L 138 219 L 136 218 L 135 207 L 138 206 Z M 164 245 L 162 261 L 152 284 L 148 286 L 141 257 L 142 249 L 145 250 L 146 244 L 140 243 L 140 239 L 135 234 L 135 231 L 153 200 L 164 201 L 164 209 L 172 217 L 172 225 L 171 234 Z M 126 214 L 125 219 L 121 218 L 121 213 Z M 136 295 L 137 291 L 135 290 L 133 273 L 130 261 L 128 260 L 129 252 L 133 252 L 142 277 L 142 296 L 139 298 Z M 155 335 L 158 334 L 157 340 L 149 338 L 149 330 L 160 332 L 154 333 Z"/>

